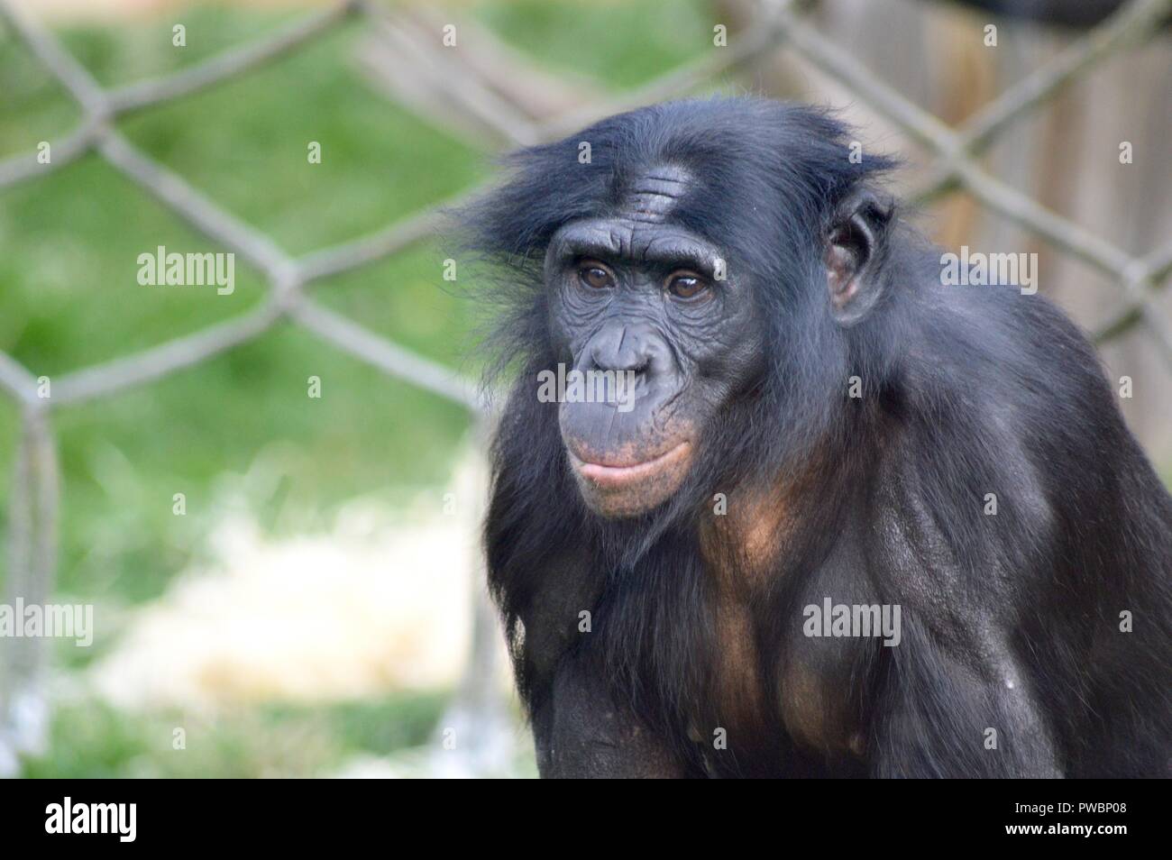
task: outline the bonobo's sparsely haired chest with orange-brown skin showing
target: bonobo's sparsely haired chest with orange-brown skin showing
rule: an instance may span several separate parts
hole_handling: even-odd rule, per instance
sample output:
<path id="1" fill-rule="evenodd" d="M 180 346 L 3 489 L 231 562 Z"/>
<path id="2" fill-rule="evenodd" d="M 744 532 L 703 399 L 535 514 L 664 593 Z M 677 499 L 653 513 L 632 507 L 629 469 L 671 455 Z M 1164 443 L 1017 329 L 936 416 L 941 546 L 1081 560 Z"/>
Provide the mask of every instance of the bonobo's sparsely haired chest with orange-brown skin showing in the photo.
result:
<path id="1" fill-rule="evenodd" d="M 716 640 L 710 701 L 724 722 L 716 728 L 732 751 L 762 750 L 782 733 L 799 753 L 859 757 L 860 687 L 874 642 L 822 623 L 827 599 L 831 615 L 867 602 L 857 535 L 841 531 L 819 564 L 802 569 L 792 559 L 808 554 L 811 535 L 799 532 L 786 494 L 758 498 L 702 527 Z"/>

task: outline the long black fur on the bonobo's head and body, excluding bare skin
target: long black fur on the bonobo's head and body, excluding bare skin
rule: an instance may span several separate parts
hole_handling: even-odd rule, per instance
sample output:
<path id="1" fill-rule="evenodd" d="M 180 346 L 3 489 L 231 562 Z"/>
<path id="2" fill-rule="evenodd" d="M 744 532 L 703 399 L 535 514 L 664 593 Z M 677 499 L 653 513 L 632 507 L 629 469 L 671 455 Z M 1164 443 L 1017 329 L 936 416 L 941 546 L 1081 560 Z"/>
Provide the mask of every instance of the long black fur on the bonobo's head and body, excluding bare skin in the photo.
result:
<path id="1" fill-rule="evenodd" d="M 893 166 L 852 164 L 849 139 L 806 107 L 661 104 L 516 153 L 506 184 L 463 213 L 497 265 L 499 354 L 520 368 L 485 541 L 543 773 L 1167 776 L 1167 492 L 1076 328 L 1038 295 L 941 286 L 939 251 L 898 212 L 878 213 L 881 300 L 858 325 L 833 320 L 826 230 L 860 189 L 881 199 Z M 768 362 L 737 382 L 673 499 L 607 520 L 579 497 L 558 405 L 534 394 L 537 371 L 565 360 L 548 336 L 543 254 L 560 226 L 607 216 L 627 177 L 662 163 L 703 186 L 673 220 L 751 274 Z M 729 728 L 729 749 L 714 750 L 736 703 L 714 692 L 722 646 L 700 523 L 714 492 L 811 467 L 817 489 L 745 634 L 768 723 Z M 899 603 L 902 642 L 804 639 L 802 607 L 823 596 Z M 1119 632 L 1123 610 L 1133 633 Z M 778 673 L 795 660 L 846 698 L 854 752 L 788 730 L 782 703 L 797 694 Z"/>

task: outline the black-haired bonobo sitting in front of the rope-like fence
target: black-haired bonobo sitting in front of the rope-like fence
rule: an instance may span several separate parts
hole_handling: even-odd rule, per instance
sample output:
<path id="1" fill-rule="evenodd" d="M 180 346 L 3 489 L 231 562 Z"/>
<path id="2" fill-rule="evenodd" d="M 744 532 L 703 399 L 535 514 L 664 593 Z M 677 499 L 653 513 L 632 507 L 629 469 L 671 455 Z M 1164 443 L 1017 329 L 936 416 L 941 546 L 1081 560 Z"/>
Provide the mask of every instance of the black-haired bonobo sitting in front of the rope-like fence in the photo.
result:
<path id="1" fill-rule="evenodd" d="M 485 542 L 541 774 L 1167 776 L 1172 500 L 1078 330 L 945 286 L 849 141 L 660 104 L 461 213 L 519 369 Z M 538 397 L 559 368 L 634 397 Z"/>

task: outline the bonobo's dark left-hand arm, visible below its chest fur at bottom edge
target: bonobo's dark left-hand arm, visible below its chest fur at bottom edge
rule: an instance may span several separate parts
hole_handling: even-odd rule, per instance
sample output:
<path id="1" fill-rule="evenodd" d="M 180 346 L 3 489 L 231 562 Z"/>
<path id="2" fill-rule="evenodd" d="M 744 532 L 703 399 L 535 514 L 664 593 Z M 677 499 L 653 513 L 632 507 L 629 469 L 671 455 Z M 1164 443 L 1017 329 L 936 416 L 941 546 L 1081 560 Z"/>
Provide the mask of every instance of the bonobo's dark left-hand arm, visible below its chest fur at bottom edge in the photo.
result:
<path id="1" fill-rule="evenodd" d="M 668 748 L 575 660 L 563 661 L 533 712 L 537 766 L 543 779 L 653 779 L 690 776 Z"/>

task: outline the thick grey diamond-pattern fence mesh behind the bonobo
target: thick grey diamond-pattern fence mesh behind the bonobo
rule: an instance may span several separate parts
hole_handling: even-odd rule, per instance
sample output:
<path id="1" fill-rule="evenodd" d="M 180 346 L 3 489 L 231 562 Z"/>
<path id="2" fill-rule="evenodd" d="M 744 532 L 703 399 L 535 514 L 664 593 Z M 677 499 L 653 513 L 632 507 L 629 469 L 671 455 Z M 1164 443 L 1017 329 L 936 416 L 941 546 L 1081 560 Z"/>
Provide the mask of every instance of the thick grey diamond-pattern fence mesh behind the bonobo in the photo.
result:
<path id="1" fill-rule="evenodd" d="M 462 107 L 504 139 L 532 144 L 557 139 L 618 110 L 687 94 L 721 74 L 785 48 L 799 62 L 811 64 L 845 86 L 934 156 L 933 164 L 913 190 L 913 202 L 956 190 L 967 191 L 987 209 L 1104 273 L 1122 292 L 1123 306 L 1092 333 L 1093 339 L 1103 342 L 1142 326 L 1172 364 L 1172 330 L 1152 302 L 1152 293 L 1172 274 L 1172 244 L 1144 257 L 1133 257 L 990 176 L 977 163 L 981 152 L 1011 123 L 1111 55 L 1152 36 L 1170 12 L 1172 0 L 1134 0 L 1122 7 L 960 128 L 948 127 L 884 83 L 871 69 L 804 21 L 793 2 L 776 0 L 761 5 L 755 26 L 736 36 L 730 47 L 713 50 L 703 60 L 646 86 L 552 121 L 529 120 L 519 105 L 509 103 L 466 75 L 441 83 Z M 440 225 L 441 206 L 374 234 L 292 257 L 263 232 L 132 145 L 116 128 L 121 117 L 247 74 L 355 16 L 367 20 L 376 34 L 384 36 L 395 27 L 393 13 L 373 0 L 346 0 L 175 74 L 104 88 L 52 33 L 22 15 L 11 0 L 0 0 L 0 20 L 25 42 L 82 110 L 79 127 L 50 142 L 49 163 L 40 163 L 35 153 L 0 161 L 0 191 L 96 153 L 209 239 L 257 267 L 268 284 L 266 300 L 260 307 L 134 355 L 64 374 L 53 381 L 50 397 L 41 396 L 38 377 L 28 368 L 0 351 L 0 391 L 14 400 L 22 414 L 21 443 L 8 506 L 6 592 L 9 603 L 15 598 L 43 602 L 53 587 L 59 472 L 48 421 L 50 410 L 105 397 L 199 364 L 259 337 L 279 321 L 301 326 L 390 376 L 463 405 L 483 425 L 488 407 L 472 381 L 374 334 L 306 293 L 306 286 L 316 280 L 368 265 L 429 238 Z M 465 200 L 476 191 L 443 205 Z M 42 643 L 41 639 L 11 640 L 9 653 L 0 661 L 0 773 L 11 770 L 6 756 L 35 751 L 46 739 L 48 704 L 40 685 L 46 660 Z"/>

